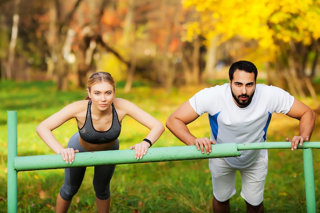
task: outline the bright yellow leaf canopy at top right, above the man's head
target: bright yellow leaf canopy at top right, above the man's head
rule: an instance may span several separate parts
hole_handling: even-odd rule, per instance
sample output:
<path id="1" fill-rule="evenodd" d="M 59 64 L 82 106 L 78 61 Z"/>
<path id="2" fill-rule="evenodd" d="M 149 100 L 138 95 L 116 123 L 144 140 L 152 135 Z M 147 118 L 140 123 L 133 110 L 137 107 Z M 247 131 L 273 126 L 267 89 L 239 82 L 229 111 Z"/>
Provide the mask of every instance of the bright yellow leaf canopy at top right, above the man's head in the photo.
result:
<path id="1" fill-rule="evenodd" d="M 187 24 L 186 40 L 202 35 L 219 42 L 233 37 L 258 41 L 259 48 L 274 56 L 275 43 L 303 42 L 320 38 L 320 1 L 312 0 L 183 0 L 198 18 Z M 277 42 L 276 42 L 277 41 Z"/>

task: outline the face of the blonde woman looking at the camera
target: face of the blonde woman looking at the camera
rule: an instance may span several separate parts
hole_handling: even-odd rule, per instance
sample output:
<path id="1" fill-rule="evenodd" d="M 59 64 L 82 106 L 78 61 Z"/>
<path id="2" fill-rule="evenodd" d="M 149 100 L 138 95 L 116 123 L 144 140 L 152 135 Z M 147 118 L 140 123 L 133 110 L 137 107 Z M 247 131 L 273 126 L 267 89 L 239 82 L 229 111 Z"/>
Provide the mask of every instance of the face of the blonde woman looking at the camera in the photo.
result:
<path id="1" fill-rule="evenodd" d="M 100 82 L 87 89 L 88 96 L 99 110 L 108 109 L 115 98 L 115 89 L 109 82 Z"/>

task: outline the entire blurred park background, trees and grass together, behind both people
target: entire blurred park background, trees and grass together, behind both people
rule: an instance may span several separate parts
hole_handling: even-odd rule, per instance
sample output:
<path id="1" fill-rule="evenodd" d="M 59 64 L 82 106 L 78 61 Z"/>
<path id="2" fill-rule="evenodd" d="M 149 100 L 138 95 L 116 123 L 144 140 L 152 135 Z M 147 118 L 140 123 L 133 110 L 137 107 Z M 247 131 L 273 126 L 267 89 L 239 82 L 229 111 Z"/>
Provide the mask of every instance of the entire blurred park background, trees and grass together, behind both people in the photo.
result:
<path id="1" fill-rule="evenodd" d="M 228 82 L 233 62 L 249 60 L 258 67 L 258 83 L 288 90 L 319 115 L 319 23 L 320 0 L 0 0 L 0 212 L 7 209 L 7 110 L 18 110 L 19 156 L 53 154 L 35 128 L 66 104 L 83 99 L 94 72 L 109 72 L 117 96 L 165 124 L 195 92 Z M 272 121 L 268 141 L 299 134 L 297 120 L 274 114 Z M 119 139 L 121 149 L 128 149 L 148 130 L 130 118 L 124 123 Z M 320 140 L 319 127 L 317 118 L 312 141 Z M 206 116 L 190 128 L 195 135 L 210 136 Z M 77 131 L 76 121 L 54 131 L 66 146 Z M 182 143 L 166 130 L 157 146 Z M 300 151 L 269 152 L 266 212 L 306 212 Z M 207 161 L 117 165 L 112 212 L 212 212 Z M 93 173 L 88 168 L 72 212 L 96 212 Z M 18 175 L 19 213 L 54 212 L 63 170 Z M 197 187 L 186 187 L 195 183 Z M 240 190 L 232 199 L 232 211 L 245 212 Z"/>

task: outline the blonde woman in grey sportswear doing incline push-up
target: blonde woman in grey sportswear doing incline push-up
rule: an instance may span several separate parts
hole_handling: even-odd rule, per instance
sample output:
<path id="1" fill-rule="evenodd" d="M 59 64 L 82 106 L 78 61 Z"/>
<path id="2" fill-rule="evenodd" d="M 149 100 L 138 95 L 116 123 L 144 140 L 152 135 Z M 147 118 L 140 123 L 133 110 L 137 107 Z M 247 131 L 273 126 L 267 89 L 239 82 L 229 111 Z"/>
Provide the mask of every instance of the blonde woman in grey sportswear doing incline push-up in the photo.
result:
<path id="1" fill-rule="evenodd" d="M 45 119 L 36 128 L 40 138 L 55 153 L 61 154 L 65 163 L 72 163 L 77 152 L 118 150 L 121 122 L 125 115 L 138 121 L 150 132 L 139 144 L 131 146 L 135 158 L 141 159 L 151 145 L 164 132 L 164 125 L 133 103 L 115 98 L 115 81 L 109 73 L 94 73 L 87 82 L 88 96 L 85 100 L 71 103 Z M 77 120 L 79 131 L 75 133 L 67 148 L 55 138 L 52 131 L 68 120 Z M 95 167 L 94 188 L 98 212 L 109 212 L 109 184 L 116 165 Z M 73 196 L 82 183 L 85 167 L 66 168 L 64 183 L 57 197 L 56 212 L 67 212 Z"/>

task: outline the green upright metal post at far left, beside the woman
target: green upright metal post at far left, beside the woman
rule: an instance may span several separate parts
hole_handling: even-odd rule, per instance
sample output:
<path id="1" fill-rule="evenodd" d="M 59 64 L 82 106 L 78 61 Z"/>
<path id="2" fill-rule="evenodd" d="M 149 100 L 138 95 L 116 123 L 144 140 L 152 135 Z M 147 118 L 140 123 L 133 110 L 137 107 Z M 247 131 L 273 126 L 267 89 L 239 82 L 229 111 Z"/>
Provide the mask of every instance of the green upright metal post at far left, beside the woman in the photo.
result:
<path id="1" fill-rule="evenodd" d="M 7 174 L 7 199 L 8 213 L 17 212 L 17 188 L 18 175 L 14 168 L 14 158 L 17 157 L 17 111 L 8 111 L 7 113 L 7 131 L 8 131 L 8 174 Z"/>

